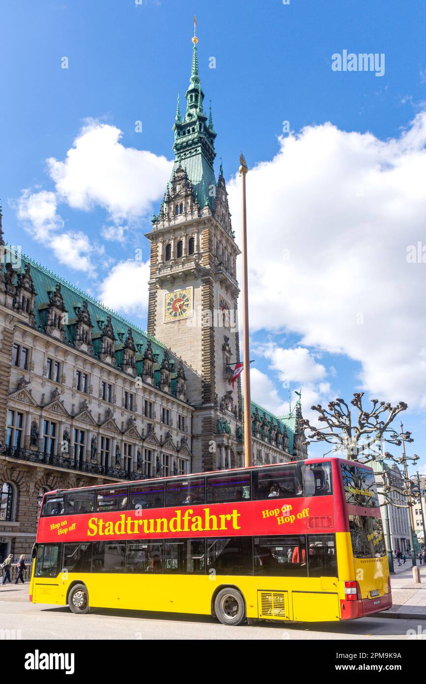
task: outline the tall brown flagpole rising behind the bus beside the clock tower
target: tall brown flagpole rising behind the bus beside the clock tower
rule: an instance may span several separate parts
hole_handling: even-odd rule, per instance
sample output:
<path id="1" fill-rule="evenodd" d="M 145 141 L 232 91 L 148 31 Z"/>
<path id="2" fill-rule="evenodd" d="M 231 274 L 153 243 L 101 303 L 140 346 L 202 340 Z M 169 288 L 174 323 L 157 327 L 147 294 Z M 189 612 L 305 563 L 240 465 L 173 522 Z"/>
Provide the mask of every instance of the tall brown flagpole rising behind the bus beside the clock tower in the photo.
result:
<path id="1" fill-rule="evenodd" d="M 243 155 L 239 157 L 241 176 L 241 241 L 243 259 L 243 379 L 244 379 L 244 465 L 253 464 L 252 402 L 250 398 L 250 347 L 248 338 L 248 268 L 247 268 L 247 215 L 245 212 L 245 174 L 248 172 Z"/>

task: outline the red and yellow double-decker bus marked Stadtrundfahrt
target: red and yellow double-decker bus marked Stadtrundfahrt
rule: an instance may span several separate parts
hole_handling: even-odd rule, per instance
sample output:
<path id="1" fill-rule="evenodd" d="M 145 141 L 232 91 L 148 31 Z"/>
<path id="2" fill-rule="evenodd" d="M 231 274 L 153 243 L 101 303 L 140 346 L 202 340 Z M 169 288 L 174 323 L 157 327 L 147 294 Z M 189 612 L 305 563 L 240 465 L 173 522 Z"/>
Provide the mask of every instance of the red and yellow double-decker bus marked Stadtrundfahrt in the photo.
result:
<path id="1" fill-rule="evenodd" d="M 44 495 L 30 601 L 315 622 L 392 605 L 373 470 L 324 458 Z"/>

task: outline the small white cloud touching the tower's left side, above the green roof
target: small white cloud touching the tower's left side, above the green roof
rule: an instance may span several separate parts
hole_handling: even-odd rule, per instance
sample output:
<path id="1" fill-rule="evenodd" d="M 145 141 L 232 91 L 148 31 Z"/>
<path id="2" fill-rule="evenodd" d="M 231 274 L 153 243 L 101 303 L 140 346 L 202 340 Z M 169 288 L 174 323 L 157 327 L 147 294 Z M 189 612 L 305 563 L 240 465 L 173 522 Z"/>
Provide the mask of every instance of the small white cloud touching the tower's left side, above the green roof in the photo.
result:
<path id="1" fill-rule="evenodd" d="M 120 261 L 101 285 L 99 299 L 114 311 L 144 317 L 148 310 L 149 261 Z"/>

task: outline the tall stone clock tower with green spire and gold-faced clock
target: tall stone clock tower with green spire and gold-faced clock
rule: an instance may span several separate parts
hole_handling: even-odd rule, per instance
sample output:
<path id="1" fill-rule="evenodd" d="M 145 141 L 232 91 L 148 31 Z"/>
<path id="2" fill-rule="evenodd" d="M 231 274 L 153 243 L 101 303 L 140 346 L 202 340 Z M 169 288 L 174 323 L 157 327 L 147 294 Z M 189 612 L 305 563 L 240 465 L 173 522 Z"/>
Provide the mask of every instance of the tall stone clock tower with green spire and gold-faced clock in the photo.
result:
<path id="1" fill-rule="evenodd" d="M 189 366 L 187 393 L 196 407 L 193 471 L 241 464 L 241 384 L 237 256 L 222 164 L 213 170 L 216 132 L 204 108 L 198 38 L 191 77 L 174 120 L 174 166 L 158 215 L 152 216 L 148 333 Z"/>

